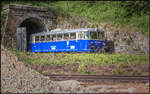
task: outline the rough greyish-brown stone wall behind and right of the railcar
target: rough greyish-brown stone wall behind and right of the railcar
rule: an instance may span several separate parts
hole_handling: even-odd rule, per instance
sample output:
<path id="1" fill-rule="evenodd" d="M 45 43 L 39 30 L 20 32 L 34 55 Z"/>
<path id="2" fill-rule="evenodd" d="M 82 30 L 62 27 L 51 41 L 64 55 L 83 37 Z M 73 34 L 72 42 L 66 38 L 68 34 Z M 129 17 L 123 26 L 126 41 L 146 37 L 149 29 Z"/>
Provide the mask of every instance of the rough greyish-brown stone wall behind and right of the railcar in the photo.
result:
<path id="1" fill-rule="evenodd" d="M 97 27 L 105 31 L 107 40 L 113 40 L 116 53 L 149 53 L 149 37 L 138 32 L 121 30 L 105 23 L 94 23 L 81 17 L 72 16 L 68 20 L 58 18 L 57 28 L 86 28 Z"/>

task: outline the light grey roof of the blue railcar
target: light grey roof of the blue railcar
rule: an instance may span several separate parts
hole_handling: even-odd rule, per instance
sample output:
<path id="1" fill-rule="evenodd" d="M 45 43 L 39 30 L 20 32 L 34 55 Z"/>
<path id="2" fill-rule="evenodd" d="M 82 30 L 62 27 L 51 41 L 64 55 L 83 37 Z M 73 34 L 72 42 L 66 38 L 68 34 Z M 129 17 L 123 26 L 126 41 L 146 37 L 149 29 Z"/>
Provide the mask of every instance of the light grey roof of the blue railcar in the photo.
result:
<path id="1" fill-rule="evenodd" d="M 40 33 L 35 33 L 32 34 L 32 36 L 37 36 L 37 35 L 48 35 L 48 34 L 61 34 L 61 33 L 73 33 L 73 32 L 86 32 L 86 31 L 92 31 L 92 32 L 104 32 L 102 30 L 99 30 L 97 28 L 77 28 L 77 29 L 54 29 L 49 32 L 40 32 Z"/>

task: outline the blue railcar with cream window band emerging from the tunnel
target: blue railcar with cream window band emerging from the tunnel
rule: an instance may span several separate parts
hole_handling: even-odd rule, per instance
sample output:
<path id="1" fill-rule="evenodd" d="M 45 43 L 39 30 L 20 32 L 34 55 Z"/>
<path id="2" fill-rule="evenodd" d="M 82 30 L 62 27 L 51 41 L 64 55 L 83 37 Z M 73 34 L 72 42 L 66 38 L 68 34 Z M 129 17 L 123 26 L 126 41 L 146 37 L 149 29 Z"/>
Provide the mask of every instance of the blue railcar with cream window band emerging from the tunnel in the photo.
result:
<path id="1" fill-rule="evenodd" d="M 31 35 L 31 52 L 97 52 L 104 47 L 104 32 L 97 28 L 52 30 Z"/>

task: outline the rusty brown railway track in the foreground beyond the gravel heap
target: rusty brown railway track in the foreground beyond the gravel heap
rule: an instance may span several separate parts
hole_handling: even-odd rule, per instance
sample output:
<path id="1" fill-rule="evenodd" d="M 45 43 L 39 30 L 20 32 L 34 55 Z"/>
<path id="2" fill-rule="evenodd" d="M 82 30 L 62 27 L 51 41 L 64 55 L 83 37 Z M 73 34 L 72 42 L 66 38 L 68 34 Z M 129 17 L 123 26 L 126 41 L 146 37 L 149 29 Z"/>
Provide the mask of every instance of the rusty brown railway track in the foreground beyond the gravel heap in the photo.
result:
<path id="1" fill-rule="evenodd" d="M 116 75 L 46 75 L 52 80 L 78 80 L 78 81 L 125 81 L 149 82 L 149 76 L 116 76 Z"/>

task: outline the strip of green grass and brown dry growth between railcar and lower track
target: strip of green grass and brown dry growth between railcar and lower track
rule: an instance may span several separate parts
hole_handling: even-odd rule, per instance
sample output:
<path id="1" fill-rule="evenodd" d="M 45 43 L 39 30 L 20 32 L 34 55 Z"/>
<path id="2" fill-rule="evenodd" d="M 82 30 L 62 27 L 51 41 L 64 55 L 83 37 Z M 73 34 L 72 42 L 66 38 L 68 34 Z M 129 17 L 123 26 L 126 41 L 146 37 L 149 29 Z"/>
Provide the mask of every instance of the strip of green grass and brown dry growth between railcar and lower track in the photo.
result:
<path id="1" fill-rule="evenodd" d="M 148 75 L 149 55 L 12 51 L 43 74 Z"/>

